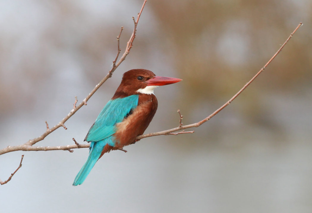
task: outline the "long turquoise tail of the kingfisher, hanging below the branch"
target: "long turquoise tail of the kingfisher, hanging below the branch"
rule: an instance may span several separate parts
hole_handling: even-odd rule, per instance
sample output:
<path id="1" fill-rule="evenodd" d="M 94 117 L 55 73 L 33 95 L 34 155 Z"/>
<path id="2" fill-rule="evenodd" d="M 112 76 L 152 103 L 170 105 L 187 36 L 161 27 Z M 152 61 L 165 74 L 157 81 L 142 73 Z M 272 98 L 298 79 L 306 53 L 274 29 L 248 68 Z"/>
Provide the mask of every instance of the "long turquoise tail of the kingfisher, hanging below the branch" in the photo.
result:
<path id="1" fill-rule="evenodd" d="M 104 141 L 106 140 L 104 139 L 102 141 L 91 142 L 88 160 L 85 162 L 85 165 L 82 166 L 79 173 L 77 174 L 73 186 L 81 185 L 85 181 L 96 161 L 100 158 L 101 152 L 107 143 L 107 141 Z"/>

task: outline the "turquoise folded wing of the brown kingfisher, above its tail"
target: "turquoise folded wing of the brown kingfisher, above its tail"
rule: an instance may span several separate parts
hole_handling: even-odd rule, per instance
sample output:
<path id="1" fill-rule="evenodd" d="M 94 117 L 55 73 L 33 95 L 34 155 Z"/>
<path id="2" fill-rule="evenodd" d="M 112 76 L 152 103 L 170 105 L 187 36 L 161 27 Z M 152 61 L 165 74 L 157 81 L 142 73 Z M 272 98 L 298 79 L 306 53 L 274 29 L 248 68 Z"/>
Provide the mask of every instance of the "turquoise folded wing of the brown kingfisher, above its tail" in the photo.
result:
<path id="1" fill-rule="evenodd" d="M 116 123 L 123 121 L 127 114 L 138 106 L 138 101 L 139 95 L 131 95 L 107 102 L 91 126 L 85 141 L 100 141 L 113 135 L 116 132 Z"/>

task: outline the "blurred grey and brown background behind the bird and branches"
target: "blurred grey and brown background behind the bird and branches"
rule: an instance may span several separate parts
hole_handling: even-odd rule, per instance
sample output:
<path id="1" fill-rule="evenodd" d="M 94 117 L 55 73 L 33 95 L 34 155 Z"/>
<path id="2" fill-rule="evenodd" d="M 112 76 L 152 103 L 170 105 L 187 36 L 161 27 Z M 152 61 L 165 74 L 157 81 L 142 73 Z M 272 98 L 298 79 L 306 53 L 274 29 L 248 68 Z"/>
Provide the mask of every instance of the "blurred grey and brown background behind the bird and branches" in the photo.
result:
<path id="1" fill-rule="evenodd" d="M 122 53 L 143 0 L 0 1 L 0 149 L 56 125 Z M 134 68 L 182 78 L 159 87 L 146 130 L 202 120 L 277 58 L 194 134 L 145 138 L 105 154 L 71 186 L 88 149 L 0 156 L 3 212 L 312 212 L 312 2 L 149 0 L 113 77 L 38 146 L 79 143 Z M 122 54 L 121 53 L 121 54 Z"/>

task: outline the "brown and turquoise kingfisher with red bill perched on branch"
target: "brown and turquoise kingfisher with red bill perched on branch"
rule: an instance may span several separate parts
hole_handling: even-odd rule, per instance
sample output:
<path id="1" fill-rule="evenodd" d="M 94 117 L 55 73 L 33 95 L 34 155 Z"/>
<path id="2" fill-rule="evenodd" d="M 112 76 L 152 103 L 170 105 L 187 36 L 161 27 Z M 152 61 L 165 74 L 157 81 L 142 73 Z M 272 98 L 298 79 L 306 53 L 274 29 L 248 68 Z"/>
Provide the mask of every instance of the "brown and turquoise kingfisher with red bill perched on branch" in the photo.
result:
<path id="1" fill-rule="evenodd" d="M 156 76 L 146 69 L 133 69 L 123 74 L 114 96 L 104 106 L 85 140 L 90 142 L 89 156 L 77 174 L 73 186 L 81 185 L 104 153 L 123 150 L 137 142 L 152 121 L 158 101 L 154 89 L 182 79 Z"/>

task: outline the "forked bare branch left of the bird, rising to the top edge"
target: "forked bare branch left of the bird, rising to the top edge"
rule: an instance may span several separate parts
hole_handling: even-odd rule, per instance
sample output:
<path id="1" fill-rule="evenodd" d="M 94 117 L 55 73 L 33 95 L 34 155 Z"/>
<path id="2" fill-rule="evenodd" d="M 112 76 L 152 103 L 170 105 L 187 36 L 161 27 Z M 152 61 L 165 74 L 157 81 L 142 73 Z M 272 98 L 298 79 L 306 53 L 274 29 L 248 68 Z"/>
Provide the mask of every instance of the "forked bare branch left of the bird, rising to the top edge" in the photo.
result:
<path id="1" fill-rule="evenodd" d="M 43 146 L 33 146 L 34 144 L 36 144 L 39 141 L 42 141 L 46 136 L 48 136 L 51 132 L 55 131 L 56 129 L 58 129 L 59 127 L 64 127 L 64 129 L 67 129 L 66 126 L 64 125 L 64 123 L 71 117 L 73 116 L 76 111 L 78 111 L 82 106 L 87 105 L 88 100 L 90 99 L 90 97 L 92 97 L 92 95 L 100 88 L 100 86 L 108 79 L 112 76 L 113 72 L 116 70 L 116 68 L 120 65 L 121 62 L 123 62 L 126 58 L 126 56 L 129 54 L 131 47 L 133 46 L 133 41 L 135 38 L 135 34 L 136 34 L 136 28 L 139 22 L 139 18 L 141 16 L 141 13 L 144 9 L 145 3 L 147 2 L 147 0 L 144 0 L 143 6 L 138 14 L 137 20 L 134 24 L 134 30 L 132 32 L 132 35 L 129 39 L 129 41 L 127 42 L 127 47 L 125 49 L 124 54 L 122 55 L 122 57 L 120 58 L 120 60 L 116 63 L 118 57 L 119 57 L 119 53 L 120 53 L 120 48 L 119 48 L 119 38 L 121 36 L 121 32 L 123 30 L 123 27 L 121 27 L 120 32 L 119 32 L 119 36 L 117 38 L 117 43 L 118 43 L 118 52 L 117 52 L 117 56 L 115 58 L 115 62 L 113 61 L 113 66 L 111 68 L 111 70 L 107 73 L 107 75 L 100 81 L 100 83 L 98 83 L 95 88 L 89 93 L 89 95 L 78 105 L 75 107 L 76 103 L 74 104 L 74 108 L 68 113 L 67 116 L 65 116 L 63 118 L 63 120 L 61 120 L 57 125 L 53 126 L 51 129 L 47 129 L 41 136 L 34 138 L 32 140 L 27 141 L 26 143 L 22 144 L 22 145 L 18 145 L 18 146 L 8 146 L 7 148 L 4 148 L 2 150 L 0 150 L 0 155 L 7 153 L 7 152 L 11 152 L 11 151 L 18 151 L 18 150 L 22 150 L 22 151 L 47 151 L 47 150 L 68 150 L 69 148 L 63 148 L 63 147 L 67 147 L 67 146 L 55 146 L 55 147 L 43 147 Z M 71 145 L 68 145 L 71 146 Z M 83 146 L 80 145 L 81 147 L 78 147 L 76 144 L 73 145 L 75 147 L 71 147 L 71 148 L 84 148 L 84 147 L 89 147 L 89 144 L 87 144 L 87 146 Z M 62 147 L 62 148 L 59 148 Z M 70 149 L 71 149 L 70 148 Z"/>

